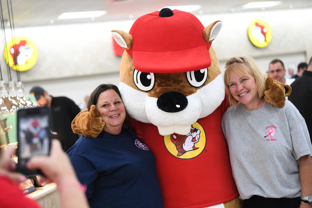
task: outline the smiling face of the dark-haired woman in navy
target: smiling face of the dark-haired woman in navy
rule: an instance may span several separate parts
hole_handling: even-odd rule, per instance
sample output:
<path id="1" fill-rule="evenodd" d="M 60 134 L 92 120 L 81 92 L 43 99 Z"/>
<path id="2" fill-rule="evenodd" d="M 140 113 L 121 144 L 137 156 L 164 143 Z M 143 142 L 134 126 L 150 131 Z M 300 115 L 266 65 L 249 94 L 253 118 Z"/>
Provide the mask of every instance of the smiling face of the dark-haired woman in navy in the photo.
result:
<path id="1" fill-rule="evenodd" d="M 119 95 L 113 89 L 101 92 L 96 103 L 96 108 L 102 121 L 105 122 L 103 130 L 115 134 L 121 131 L 126 117 L 124 104 Z M 120 130 L 120 131 L 119 131 Z"/>

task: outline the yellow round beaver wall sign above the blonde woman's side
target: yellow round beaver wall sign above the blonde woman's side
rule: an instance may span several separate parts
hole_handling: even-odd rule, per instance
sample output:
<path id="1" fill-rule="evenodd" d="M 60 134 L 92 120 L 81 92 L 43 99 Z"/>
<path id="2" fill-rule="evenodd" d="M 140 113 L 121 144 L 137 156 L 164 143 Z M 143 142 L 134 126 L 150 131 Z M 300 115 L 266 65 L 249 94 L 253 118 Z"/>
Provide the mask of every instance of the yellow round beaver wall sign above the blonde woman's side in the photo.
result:
<path id="1" fill-rule="evenodd" d="M 272 40 L 272 30 L 263 20 L 255 20 L 248 27 L 248 38 L 258 48 L 268 46 Z"/>

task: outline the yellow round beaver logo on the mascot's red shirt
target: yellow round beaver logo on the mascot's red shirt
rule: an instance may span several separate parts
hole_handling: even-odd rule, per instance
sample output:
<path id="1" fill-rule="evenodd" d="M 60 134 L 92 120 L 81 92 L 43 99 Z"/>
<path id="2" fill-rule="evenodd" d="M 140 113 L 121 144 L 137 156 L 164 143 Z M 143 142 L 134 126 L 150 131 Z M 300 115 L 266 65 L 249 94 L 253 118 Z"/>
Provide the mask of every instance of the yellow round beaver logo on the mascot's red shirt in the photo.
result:
<path id="1" fill-rule="evenodd" d="M 167 150 L 174 157 L 190 159 L 197 157 L 206 146 L 206 133 L 200 123 L 195 122 L 186 135 L 173 133 L 163 137 Z"/>

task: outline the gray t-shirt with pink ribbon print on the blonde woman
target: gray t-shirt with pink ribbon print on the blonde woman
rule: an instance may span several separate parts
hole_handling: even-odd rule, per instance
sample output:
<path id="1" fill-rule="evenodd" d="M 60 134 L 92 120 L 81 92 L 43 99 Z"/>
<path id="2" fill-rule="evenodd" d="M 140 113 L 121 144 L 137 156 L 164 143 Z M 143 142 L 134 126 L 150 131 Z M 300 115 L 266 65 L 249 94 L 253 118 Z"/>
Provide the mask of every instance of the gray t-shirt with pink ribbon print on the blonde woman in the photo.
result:
<path id="1" fill-rule="evenodd" d="M 257 110 L 238 103 L 224 113 L 222 129 L 242 199 L 301 196 L 296 160 L 311 156 L 312 146 L 305 120 L 290 101 Z"/>

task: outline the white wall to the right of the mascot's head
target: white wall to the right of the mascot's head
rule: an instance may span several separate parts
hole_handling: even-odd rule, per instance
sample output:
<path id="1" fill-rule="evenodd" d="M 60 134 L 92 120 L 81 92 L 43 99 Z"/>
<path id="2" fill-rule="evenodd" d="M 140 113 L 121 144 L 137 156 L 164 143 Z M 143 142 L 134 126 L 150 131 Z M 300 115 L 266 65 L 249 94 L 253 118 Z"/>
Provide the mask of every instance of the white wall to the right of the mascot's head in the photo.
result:
<path id="1" fill-rule="evenodd" d="M 288 9 L 275 11 L 241 12 L 199 16 L 207 26 L 215 20 L 222 21 L 222 29 L 212 42 L 220 68 L 231 56 L 248 55 L 256 59 L 263 72 L 271 60 L 279 58 L 288 65 L 297 66 L 312 56 L 312 9 Z M 265 48 L 253 46 L 247 36 L 247 28 L 255 19 L 266 21 L 272 29 L 271 43 Z M 295 67 L 295 72 L 297 67 Z"/>

